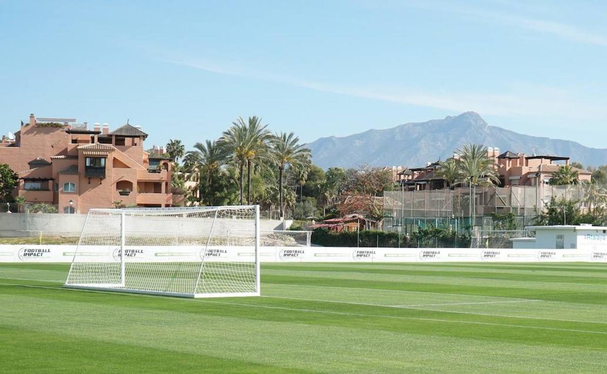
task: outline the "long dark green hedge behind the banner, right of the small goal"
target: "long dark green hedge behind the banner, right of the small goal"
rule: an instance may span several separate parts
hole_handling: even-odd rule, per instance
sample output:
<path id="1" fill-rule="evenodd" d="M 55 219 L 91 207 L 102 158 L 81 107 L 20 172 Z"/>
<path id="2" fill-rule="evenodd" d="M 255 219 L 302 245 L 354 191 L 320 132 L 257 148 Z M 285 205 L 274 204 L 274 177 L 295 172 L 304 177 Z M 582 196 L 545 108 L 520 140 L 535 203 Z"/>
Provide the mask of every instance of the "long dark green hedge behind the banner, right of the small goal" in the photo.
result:
<path id="1" fill-rule="evenodd" d="M 312 232 L 312 244 L 325 247 L 466 248 L 470 247 L 470 235 L 457 234 L 453 230 L 436 228 L 431 225 L 425 228 L 420 227 L 411 236 L 375 230 L 362 230 L 359 233 L 355 231 L 335 233 L 327 229 L 316 229 Z"/>

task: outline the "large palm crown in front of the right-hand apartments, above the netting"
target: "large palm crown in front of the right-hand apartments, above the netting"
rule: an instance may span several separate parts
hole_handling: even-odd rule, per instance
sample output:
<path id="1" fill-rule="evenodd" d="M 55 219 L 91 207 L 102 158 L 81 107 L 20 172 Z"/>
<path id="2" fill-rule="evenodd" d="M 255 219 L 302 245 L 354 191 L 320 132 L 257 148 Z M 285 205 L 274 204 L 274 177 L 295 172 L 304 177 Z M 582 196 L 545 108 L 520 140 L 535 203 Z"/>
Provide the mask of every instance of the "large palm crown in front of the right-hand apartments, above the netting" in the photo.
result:
<path id="1" fill-rule="evenodd" d="M 489 187 L 500 183 L 495 162 L 487 154 L 487 147 L 467 144 L 457 150 L 459 155 L 459 180 L 467 185 Z"/>

